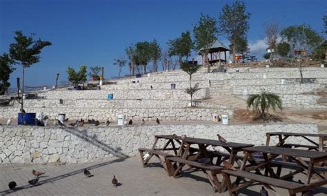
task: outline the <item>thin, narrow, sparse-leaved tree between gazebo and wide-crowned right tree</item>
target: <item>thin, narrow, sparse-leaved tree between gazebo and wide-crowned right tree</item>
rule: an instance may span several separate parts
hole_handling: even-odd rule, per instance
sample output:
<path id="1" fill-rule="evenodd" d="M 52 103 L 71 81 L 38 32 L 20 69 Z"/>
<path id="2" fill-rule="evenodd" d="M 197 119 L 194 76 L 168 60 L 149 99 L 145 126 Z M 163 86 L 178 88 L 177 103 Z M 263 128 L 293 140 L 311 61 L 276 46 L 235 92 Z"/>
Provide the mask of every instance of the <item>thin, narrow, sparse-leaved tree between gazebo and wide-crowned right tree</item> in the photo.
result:
<path id="1" fill-rule="evenodd" d="M 270 60 L 275 57 L 275 51 L 277 50 L 277 38 L 279 35 L 278 23 L 275 21 L 270 21 L 264 25 L 264 32 L 266 34 L 266 44 L 270 49 Z"/>

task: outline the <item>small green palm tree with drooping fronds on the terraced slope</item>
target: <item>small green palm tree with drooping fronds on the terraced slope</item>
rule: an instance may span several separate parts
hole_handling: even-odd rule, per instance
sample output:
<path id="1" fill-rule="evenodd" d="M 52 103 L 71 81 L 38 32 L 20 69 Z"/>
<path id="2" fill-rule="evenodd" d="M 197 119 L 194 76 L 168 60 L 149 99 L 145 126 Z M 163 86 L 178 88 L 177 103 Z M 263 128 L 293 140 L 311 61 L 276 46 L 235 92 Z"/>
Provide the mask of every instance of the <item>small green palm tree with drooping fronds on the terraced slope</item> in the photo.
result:
<path id="1" fill-rule="evenodd" d="M 253 110 L 257 110 L 264 121 L 268 119 L 268 110 L 270 108 L 273 108 L 274 112 L 276 107 L 282 110 L 281 98 L 266 91 L 262 91 L 261 94 L 250 95 L 246 100 L 246 104 L 248 108 L 252 106 Z"/>

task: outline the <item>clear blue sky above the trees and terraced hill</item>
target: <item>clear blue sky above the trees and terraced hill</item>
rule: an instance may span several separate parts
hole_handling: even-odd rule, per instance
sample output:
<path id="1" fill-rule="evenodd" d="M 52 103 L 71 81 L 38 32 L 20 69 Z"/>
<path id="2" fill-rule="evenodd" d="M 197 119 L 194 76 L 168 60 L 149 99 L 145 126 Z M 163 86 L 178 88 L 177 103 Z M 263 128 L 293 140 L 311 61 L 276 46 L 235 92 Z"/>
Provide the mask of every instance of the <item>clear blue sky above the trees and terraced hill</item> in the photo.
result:
<path id="1" fill-rule="evenodd" d="M 324 0 L 245 1 L 250 17 L 248 41 L 251 54 L 261 56 L 264 45 L 264 23 L 274 19 L 281 28 L 307 23 L 321 32 L 326 14 Z M 157 39 L 161 48 L 167 41 L 192 30 L 200 13 L 216 19 L 227 0 L 0 0 L 0 53 L 8 52 L 14 42 L 14 31 L 37 34 L 35 38 L 51 41 L 41 53 L 41 61 L 26 70 L 26 86 L 53 85 L 68 81 L 66 68 L 103 66 L 105 77 L 118 75 L 112 63 L 126 56 L 124 48 L 137 41 Z M 224 36 L 219 40 L 228 44 Z M 123 75 L 128 70 L 123 70 Z M 21 77 L 17 67 L 11 77 L 12 87 Z"/>

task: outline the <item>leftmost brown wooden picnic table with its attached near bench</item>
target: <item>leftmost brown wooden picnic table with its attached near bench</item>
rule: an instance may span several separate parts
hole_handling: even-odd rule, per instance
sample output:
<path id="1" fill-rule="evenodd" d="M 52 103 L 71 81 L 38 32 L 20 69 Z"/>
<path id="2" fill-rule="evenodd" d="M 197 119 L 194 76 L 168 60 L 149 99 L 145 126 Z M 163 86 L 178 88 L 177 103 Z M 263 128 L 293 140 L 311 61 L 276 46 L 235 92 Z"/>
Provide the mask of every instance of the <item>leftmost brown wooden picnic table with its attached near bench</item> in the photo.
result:
<path id="1" fill-rule="evenodd" d="M 185 165 L 201 168 L 206 177 L 208 177 L 209 182 L 212 185 L 212 188 L 214 188 L 215 192 L 221 192 L 226 188 L 225 179 L 223 178 L 222 182 L 220 183 L 217 178 L 217 175 L 221 173 L 221 170 L 224 169 L 224 167 L 220 166 L 222 162 L 221 155 L 212 153 L 212 150 L 208 150 L 208 147 L 221 146 L 222 148 L 226 149 L 228 153 L 230 153 L 228 161 L 233 165 L 237 159 L 237 153 L 243 151 L 242 148 L 254 146 L 252 144 L 241 144 L 235 142 L 221 143 L 221 141 L 214 139 L 201 139 L 194 137 L 186 137 L 185 139 L 172 135 L 156 135 L 156 137 L 165 139 L 179 139 L 181 141 L 181 148 L 179 148 L 177 156 L 166 157 L 166 168 L 168 175 L 176 177 L 179 175 L 179 173 L 181 173 L 181 170 Z M 195 149 L 198 150 L 193 150 L 193 152 L 191 152 L 190 149 L 194 148 L 194 145 L 196 145 Z M 215 163 L 213 163 L 214 157 L 217 157 Z M 199 162 L 197 162 L 199 159 L 207 159 L 210 160 L 210 162 L 205 161 L 203 164 L 199 164 Z M 175 161 L 175 164 L 172 164 L 173 161 Z M 210 174 L 208 174 L 206 170 L 210 170 Z"/>

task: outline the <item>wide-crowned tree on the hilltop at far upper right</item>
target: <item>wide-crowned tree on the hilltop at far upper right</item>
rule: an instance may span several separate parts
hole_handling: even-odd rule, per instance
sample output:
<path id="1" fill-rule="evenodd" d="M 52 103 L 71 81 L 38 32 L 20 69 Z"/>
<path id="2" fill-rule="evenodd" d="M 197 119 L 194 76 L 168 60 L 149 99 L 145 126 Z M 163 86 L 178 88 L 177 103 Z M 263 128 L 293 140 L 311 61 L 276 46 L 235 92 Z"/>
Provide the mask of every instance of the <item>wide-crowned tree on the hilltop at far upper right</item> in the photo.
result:
<path id="1" fill-rule="evenodd" d="M 301 26 L 289 26 L 281 30 L 281 39 L 290 44 L 293 50 L 300 50 L 300 59 L 297 65 L 300 73 L 300 82 L 303 83 L 304 62 L 301 56 L 310 55 L 324 39 L 310 26 L 302 24 Z"/>

